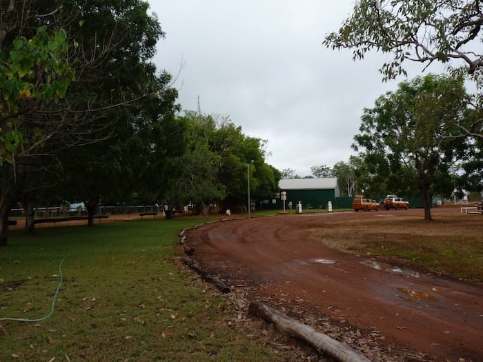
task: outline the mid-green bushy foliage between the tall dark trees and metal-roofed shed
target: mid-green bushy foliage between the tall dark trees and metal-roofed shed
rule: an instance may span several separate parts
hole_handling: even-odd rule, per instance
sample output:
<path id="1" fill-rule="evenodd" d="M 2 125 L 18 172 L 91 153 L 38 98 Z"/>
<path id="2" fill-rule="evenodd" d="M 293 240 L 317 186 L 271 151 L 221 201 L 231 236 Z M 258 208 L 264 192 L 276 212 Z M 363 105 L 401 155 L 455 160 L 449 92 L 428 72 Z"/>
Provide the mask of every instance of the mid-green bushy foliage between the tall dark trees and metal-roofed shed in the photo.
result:
<path id="1" fill-rule="evenodd" d="M 246 137 L 227 117 L 188 111 L 178 119 L 185 131 L 177 142 L 184 150 L 167 160 L 162 203 L 174 208 L 193 202 L 199 212 L 220 203 L 236 208 L 246 200 L 247 173 L 253 197 L 270 199 L 277 192 L 279 172 L 264 162 L 265 141 Z"/>

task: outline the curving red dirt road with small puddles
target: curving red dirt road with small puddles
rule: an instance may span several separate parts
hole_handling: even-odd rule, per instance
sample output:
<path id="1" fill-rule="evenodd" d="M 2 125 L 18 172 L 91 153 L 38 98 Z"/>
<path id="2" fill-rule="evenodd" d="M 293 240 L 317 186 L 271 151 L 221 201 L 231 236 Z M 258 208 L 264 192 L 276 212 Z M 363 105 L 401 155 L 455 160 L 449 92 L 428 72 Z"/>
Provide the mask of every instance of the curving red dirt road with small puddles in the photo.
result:
<path id="1" fill-rule="evenodd" d="M 369 359 L 387 361 L 391 351 L 404 361 L 483 361 L 482 285 L 348 254 L 313 237 L 313 230 L 335 221 L 411 214 L 422 216 L 422 210 L 210 223 L 187 230 L 186 245 L 201 268 L 228 285 L 244 285 L 250 300 L 311 321 L 317 330 L 321 320 L 348 326 L 356 331 L 353 346 Z M 361 347 L 369 340 L 382 354 Z"/>

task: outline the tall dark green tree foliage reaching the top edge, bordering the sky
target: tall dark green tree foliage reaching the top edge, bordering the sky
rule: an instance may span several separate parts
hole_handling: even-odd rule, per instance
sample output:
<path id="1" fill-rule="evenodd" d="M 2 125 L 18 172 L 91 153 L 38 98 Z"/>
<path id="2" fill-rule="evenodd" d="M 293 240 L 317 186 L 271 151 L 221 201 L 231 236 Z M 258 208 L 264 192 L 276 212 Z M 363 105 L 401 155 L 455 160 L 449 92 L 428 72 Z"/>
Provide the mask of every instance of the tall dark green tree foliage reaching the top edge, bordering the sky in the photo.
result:
<path id="1" fill-rule="evenodd" d="M 164 33 L 144 1 L 70 5 L 64 9 L 79 19 L 70 22 L 68 33 L 77 44 L 73 65 L 82 74 L 67 98 L 74 114 L 88 117 L 74 120 L 71 134 L 46 145 L 62 165 L 50 179 L 62 186 L 50 197 L 83 200 L 92 211 L 100 201 L 152 202 L 153 180 L 166 173 L 166 157 L 179 153 L 172 140 L 183 132 L 173 121 L 179 106 L 171 76 L 150 63 Z"/>

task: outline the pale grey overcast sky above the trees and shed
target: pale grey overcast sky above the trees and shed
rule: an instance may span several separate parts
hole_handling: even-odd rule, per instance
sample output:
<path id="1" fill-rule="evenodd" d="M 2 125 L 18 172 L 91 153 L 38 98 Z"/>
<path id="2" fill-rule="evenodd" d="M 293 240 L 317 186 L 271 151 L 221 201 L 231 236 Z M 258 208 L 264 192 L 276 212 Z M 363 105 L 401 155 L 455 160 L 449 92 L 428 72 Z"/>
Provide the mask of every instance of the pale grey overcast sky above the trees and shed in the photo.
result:
<path id="1" fill-rule="evenodd" d="M 322 46 L 352 13 L 353 0 L 149 0 L 166 39 L 155 63 L 177 74 L 184 110 L 229 116 L 268 141 L 266 162 L 304 177 L 311 166 L 347 162 L 364 108 L 395 90 L 379 68 L 388 59 Z M 408 63 L 408 77 L 420 64 Z M 442 69 L 442 68 L 441 68 Z M 437 72 L 440 70 L 431 70 Z M 427 71 L 426 71 L 427 72 Z"/>

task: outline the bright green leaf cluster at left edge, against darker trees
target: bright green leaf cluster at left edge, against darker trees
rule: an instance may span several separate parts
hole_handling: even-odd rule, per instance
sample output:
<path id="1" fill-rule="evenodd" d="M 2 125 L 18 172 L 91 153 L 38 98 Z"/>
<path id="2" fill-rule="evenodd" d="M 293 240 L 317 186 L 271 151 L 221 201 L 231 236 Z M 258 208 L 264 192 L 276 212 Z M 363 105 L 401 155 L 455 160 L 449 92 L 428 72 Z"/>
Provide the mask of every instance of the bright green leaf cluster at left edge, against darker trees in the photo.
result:
<path id="1" fill-rule="evenodd" d="M 49 35 L 46 28 L 39 28 L 32 39 L 14 39 L 8 55 L 0 53 L 0 165 L 13 163 L 27 142 L 43 138 L 39 128 L 26 132 L 24 113 L 31 112 L 32 104 L 45 106 L 66 96 L 75 80 L 67 51 L 64 30 Z"/>

